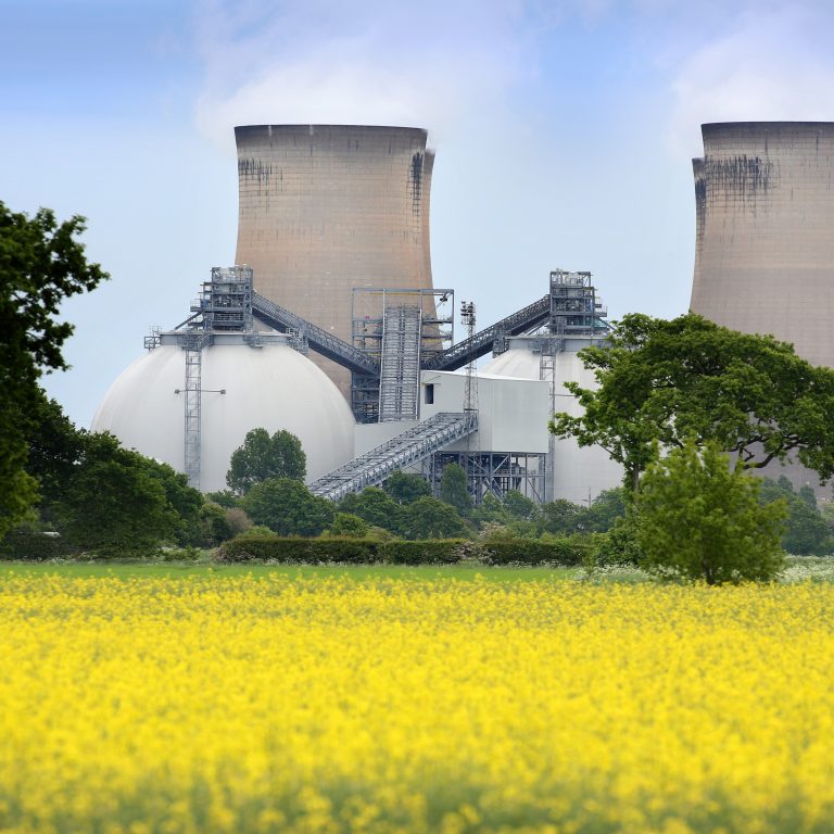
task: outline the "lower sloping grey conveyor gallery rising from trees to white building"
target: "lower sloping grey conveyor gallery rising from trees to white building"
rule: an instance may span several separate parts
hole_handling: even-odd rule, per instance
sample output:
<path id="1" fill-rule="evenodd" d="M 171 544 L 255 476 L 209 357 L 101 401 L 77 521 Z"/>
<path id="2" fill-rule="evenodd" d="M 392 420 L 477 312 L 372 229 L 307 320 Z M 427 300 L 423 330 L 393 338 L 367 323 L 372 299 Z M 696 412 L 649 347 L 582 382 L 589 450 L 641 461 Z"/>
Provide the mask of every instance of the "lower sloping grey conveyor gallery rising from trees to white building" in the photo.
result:
<path id="1" fill-rule="evenodd" d="M 309 491 L 339 501 L 381 483 L 397 469 L 424 460 L 477 429 L 476 412 L 441 412 L 314 481 Z"/>

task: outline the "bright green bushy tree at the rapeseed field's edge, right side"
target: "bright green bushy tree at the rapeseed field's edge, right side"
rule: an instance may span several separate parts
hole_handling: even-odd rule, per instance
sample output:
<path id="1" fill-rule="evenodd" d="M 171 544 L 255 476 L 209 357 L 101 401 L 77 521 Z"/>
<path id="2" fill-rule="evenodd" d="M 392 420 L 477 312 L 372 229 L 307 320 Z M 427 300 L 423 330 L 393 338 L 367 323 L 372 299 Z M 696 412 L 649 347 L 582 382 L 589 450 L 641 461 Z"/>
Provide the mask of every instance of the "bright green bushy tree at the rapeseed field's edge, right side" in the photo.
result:
<path id="1" fill-rule="evenodd" d="M 636 498 L 636 540 L 647 570 L 707 584 L 767 581 L 783 564 L 783 502 L 761 505 L 760 481 L 718 444 L 694 439 L 646 469 Z"/>

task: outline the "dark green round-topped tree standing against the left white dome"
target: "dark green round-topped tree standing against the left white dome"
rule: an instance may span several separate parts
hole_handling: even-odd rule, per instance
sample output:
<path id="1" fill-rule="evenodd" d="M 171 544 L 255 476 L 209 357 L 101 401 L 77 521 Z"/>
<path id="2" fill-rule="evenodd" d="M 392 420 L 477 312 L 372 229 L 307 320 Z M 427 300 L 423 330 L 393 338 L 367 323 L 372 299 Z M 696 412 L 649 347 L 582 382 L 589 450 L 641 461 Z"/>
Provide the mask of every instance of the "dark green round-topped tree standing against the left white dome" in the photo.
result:
<path id="1" fill-rule="evenodd" d="M 269 437 L 266 429 L 252 429 L 231 455 L 226 483 L 245 495 L 255 483 L 269 478 L 303 481 L 306 473 L 307 456 L 294 434 L 281 429 Z"/>

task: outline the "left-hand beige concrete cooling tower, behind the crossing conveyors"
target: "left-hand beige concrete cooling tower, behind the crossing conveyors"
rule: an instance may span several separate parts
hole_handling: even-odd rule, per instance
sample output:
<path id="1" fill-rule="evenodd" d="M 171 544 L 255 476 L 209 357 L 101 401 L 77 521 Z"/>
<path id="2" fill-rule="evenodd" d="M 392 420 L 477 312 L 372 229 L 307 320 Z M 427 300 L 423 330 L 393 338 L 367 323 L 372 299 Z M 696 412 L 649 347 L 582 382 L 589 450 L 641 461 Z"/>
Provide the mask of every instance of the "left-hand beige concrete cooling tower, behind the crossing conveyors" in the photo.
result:
<path id="1" fill-rule="evenodd" d="M 426 130 L 236 127 L 236 263 L 255 290 L 351 341 L 354 287 L 431 288 Z M 345 396 L 350 375 L 315 356 Z"/>

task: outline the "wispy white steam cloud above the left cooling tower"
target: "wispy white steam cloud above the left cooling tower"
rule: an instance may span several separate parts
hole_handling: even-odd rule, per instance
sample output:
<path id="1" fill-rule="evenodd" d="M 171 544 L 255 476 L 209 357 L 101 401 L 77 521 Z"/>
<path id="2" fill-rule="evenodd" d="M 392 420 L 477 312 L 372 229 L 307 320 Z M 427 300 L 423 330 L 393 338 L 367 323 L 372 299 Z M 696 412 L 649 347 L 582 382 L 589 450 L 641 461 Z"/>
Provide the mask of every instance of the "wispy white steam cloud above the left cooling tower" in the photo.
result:
<path id="1" fill-rule="evenodd" d="M 211 0 L 200 13 L 198 122 L 223 143 L 235 124 L 454 131 L 534 72 L 531 45 L 549 11 L 522 0 Z"/>

